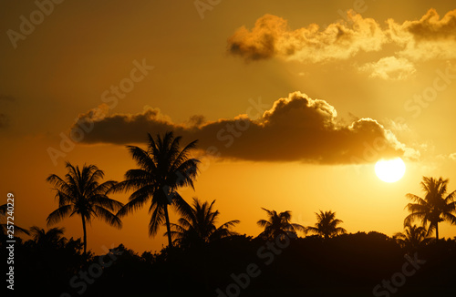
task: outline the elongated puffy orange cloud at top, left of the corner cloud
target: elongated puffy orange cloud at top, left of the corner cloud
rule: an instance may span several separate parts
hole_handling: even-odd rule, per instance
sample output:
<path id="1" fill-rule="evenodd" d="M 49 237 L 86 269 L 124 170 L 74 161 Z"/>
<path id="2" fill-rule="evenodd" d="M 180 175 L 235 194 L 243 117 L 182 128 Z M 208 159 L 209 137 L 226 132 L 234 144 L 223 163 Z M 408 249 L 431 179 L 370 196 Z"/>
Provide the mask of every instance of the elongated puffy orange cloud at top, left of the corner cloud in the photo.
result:
<path id="1" fill-rule="evenodd" d="M 279 16 L 260 17 L 249 31 L 237 29 L 228 39 L 228 51 L 246 61 L 275 56 L 302 62 L 326 62 L 347 59 L 359 51 L 378 51 L 387 42 L 387 36 L 372 18 L 349 11 L 349 24 L 344 21 L 320 29 L 316 24 L 291 30 Z"/>

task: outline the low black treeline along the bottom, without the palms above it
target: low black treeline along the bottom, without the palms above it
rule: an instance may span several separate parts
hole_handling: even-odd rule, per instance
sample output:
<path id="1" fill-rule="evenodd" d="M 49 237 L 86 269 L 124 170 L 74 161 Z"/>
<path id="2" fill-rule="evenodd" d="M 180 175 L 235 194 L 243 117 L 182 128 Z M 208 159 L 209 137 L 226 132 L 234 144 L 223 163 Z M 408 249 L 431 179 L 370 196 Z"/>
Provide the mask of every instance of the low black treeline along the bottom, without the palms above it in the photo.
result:
<path id="1" fill-rule="evenodd" d="M 199 248 L 165 248 L 155 254 L 139 255 L 120 245 L 105 255 L 88 254 L 87 261 L 79 239 L 47 240 L 16 244 L 17 296 L 223 296 L 221 292 L 226 296 L 454 296 L 456 292 L 454 240 L 433 242 L 412 253 L 378 232 L 328 240 L 316 235 L 274 241 L 234 235 Z"/>

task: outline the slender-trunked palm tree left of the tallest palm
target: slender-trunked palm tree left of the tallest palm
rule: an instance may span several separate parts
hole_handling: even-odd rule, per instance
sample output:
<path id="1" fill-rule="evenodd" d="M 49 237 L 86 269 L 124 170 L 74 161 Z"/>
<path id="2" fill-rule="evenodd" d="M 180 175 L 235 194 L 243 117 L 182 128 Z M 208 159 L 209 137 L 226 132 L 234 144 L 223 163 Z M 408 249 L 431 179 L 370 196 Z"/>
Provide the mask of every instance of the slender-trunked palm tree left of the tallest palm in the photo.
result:
<path id="1" fill-rule="evenodd" d="M 99 217 L 108 222 L 110 226 L 122 227 L 119 218 L 111 211 L 117 211 L 123 203 L 109 199 L 109 189 L 117 184 L 114 180 L 99 183 L 103 179 L 104 172 L 95 165 L 84 165 L 82 170 L 67 162 L 68 173 L 64 179 L 56 174 L 51 174 L 46 179 L 56 190 L 58 209 L 54 210 L 47 217 L 47 225 L 57 223 L 65 217 L 72 217 L 77 214 L 82 220 L 84 232 L 84 254 L 87 254 L 87 231 L 86 224 L 90 223 L 93 217 Z"/>

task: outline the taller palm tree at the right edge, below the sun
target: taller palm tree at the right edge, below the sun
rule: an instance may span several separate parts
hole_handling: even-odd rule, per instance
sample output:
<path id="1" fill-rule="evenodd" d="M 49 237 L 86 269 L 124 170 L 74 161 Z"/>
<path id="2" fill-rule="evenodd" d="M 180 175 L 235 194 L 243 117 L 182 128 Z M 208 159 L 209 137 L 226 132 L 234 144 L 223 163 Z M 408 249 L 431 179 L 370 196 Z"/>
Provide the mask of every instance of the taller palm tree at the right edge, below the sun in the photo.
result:
<path id="1" fill-rule="evenodd" d="M 424 198 L 417 195 L 407 194 L 406 197 L 415 203 L 409 203 L 406 209 L 410 214 L 404 220 L 404 226 L 412 220 L 421 220 L 422 226 L 426 227 L 429 223 L 428 235 L 435 230 L 435 238 L 439 241 L 439 222 L 450 221 L 456 224 L 456 191 L 447 195 L 449 179 L 433 179 L 423 177 L 421 188 L 425 192 Z"/>

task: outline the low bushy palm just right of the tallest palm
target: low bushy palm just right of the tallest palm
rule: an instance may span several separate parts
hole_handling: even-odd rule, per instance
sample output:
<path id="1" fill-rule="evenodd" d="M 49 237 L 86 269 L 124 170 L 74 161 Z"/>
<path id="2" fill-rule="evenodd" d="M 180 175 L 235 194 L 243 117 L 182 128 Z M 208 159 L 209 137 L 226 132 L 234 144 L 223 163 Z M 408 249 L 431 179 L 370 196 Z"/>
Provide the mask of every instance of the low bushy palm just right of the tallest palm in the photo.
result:
<path id="1" fill-rule="evenodd" d="M 220 215 L 219 210 L 212 210 L 213 203 L 207 201 L 201 203 L 197 198 L 193 198 L 191 212 L 178 220 L 178 224 L 171 223 L 171 237 L 173 241 L 182 247 L 199 246 L 219 240 L 225 237 L 236 235 L 231 228 L 239 223 L 239 220 L 229 220 L 218 228 L 215 223 Z"/>

